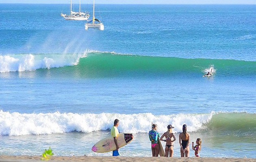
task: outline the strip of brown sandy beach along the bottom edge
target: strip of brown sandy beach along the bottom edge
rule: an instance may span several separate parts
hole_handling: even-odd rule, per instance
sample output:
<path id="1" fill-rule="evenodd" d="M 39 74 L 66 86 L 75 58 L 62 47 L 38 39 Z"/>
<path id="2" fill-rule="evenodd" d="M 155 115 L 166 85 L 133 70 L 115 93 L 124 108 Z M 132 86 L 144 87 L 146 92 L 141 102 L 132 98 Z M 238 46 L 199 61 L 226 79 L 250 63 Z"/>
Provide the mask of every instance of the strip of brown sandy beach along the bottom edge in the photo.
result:
<path id="1" fill-rule="evenodd" d="M 52 156 L 50 162 L 256 162 L 248 158 L 165 158 L 165 157 L 108 157 L 108 156 Z M 0 162 L 42 161 L 41 156 L 0 156 Z"/>

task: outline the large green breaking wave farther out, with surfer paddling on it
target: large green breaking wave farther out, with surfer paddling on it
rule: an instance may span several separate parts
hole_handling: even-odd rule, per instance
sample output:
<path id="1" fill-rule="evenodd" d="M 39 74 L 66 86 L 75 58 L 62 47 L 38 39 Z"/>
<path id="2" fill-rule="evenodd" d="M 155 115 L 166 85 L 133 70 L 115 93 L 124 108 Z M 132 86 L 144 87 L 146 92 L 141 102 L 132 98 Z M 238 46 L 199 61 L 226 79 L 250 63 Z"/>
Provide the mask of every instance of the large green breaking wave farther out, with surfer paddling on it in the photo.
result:
<path id="1" fill-rule="evenodd" d="M 69 54 L 15 54 L 0 55 L 0 72 L 31 71 L 39 68 L 59 68 L 86 77 L 117 75 L 204 75 L 213 68 L 216 75 L 255 75 L 256 62 L 221 59 L 186 59 L 156 56 L 118 54 L 114 52 L 85 51 Z M 75 72 L 76 71 L 76 72 Z"/>

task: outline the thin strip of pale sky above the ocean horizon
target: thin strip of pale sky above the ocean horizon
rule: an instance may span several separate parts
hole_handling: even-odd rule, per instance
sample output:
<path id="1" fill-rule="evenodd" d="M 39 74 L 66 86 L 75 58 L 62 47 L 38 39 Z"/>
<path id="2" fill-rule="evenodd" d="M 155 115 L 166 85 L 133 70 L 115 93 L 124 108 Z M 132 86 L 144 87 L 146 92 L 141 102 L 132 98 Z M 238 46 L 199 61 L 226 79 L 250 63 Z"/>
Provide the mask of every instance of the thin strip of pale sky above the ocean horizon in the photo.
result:
<path id="1" fill-rule="evenodd" d="M 79 0 L 72 0 L 79 3 Z M 81 0 L 92 3 L 93 0 Z M 67 4 L 70 0 L 0 0 L 0 3 Z M 95 0 L 97 4 L 256 4 L 256 0 Z"/>

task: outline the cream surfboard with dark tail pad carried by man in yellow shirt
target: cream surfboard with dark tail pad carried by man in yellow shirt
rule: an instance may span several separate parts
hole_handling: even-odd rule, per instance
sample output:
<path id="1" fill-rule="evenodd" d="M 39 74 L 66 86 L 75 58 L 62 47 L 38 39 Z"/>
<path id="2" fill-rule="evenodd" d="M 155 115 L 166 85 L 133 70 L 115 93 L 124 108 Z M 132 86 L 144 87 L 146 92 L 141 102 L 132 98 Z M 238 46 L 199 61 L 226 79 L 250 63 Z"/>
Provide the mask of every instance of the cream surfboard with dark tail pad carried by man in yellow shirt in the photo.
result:
<path id="1" fill-rule="evenodd" d="M 117 135 L 117 145 L 119 148 L 127 145 L 128 143 L 132 142 L 133 134 L 131 133 L 119 133 Z M 115 141 L 113 136 L 107 136 L 106 138 L 98 141 L 95 145 L 91 148 L 94 152 L 109 152 L 116 150 L 117 147 L 115 146 Z"/>

